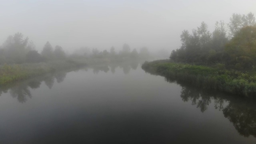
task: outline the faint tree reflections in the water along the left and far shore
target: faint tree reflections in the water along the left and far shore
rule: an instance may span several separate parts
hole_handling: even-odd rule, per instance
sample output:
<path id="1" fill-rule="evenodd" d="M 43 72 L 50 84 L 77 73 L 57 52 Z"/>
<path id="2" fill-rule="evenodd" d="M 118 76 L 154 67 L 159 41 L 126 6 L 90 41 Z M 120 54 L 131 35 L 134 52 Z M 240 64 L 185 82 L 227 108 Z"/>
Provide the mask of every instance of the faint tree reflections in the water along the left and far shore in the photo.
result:
<path id="1" fill-rule="evenodd" d="M 88 69 L 92 68 L 94 74 L 98 74 L 99 72 L 111 72 L 114 74 L 116 68 L 120 67 L 123 69 L 124 74 L 128 74 L 132 68 L 132 70 L 136 70 L 138 67 L 138 61 L 130 61 L 130 62 L 122 62 L 122 63 L 112 63 L 106 65 L 94 65 L 85 67 L 83 70 L 88 71 Z M 57 72 L 48 73 L 44 76 L 39 76 L 36 78 L 32 78 L 29 80 L 24 80 L 20 82 L 14 82 L 11 84 L 7 84 L 5 86 L 0 87 L 0 96 L 2 93 L 9 92 L 13 98 L 17 98 L 18 102 L 24 103 L 28 99 L 32 98 L 32 94 L 30 89 L 40 88 L 42 82 L 49 88 L 52 89 L 54 82 L 61 83 L 66 78 L 66 74 L 71 71 L 78 71 L 79 69 L 70 69 L 70 70 L 62 70 Z"/>

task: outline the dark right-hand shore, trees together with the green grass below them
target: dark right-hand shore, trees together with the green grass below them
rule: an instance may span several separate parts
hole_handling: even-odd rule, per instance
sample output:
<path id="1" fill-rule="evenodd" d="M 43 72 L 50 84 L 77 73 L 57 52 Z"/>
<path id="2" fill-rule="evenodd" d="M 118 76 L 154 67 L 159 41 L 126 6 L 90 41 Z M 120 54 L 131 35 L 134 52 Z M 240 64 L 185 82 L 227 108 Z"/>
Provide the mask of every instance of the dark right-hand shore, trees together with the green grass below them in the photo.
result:
<path id="1" fill-rule="evenodd" d="M 192 34 L 184 30 L 182 46 L 172 51 L 170 60 L 145 62 L 142 68 L 178 84 L 256 96 L 254 14 L 233 14 L 228 28 L 229 36 L 222 21 L 216 22 L 212 33 L 204 22 Z"/>

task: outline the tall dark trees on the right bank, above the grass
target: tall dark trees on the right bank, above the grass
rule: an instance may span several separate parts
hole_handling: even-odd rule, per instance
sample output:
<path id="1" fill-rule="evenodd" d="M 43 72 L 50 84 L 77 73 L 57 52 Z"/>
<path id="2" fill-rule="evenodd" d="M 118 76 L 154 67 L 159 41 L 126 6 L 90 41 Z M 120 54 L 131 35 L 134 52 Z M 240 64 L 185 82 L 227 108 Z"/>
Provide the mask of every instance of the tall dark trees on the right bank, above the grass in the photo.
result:
<path id="1" fill-rule="evenodd" d="M 213 32 L 202 22 L 192 30 L 183 30 L 180 48 L 173 50 L 174 62 L 224 64 L 227 68 L 248 69 L 256 64 L 256 21 L 251 12 L 232 14 L 230 22 L 216 22 Z"/>

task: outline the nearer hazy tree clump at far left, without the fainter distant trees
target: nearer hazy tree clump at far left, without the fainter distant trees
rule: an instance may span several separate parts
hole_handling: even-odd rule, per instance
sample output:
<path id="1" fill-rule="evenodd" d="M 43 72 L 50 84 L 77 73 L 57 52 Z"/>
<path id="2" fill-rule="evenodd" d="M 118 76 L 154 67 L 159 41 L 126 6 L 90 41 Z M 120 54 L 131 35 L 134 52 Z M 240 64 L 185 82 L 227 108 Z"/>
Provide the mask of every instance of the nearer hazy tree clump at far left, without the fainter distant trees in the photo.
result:
<path id="1" fill-rule="evenodd" d="M 0 64 L 22 64 L 26 62 L 46 62 L 49 60 L 64 60 L 66 53 L 61 46 L 53 49 L 50 42 L 46 42 L 41 53 L 35 50 L 35 45 L 17 32 L 9 36 L 0 47 Z"/>

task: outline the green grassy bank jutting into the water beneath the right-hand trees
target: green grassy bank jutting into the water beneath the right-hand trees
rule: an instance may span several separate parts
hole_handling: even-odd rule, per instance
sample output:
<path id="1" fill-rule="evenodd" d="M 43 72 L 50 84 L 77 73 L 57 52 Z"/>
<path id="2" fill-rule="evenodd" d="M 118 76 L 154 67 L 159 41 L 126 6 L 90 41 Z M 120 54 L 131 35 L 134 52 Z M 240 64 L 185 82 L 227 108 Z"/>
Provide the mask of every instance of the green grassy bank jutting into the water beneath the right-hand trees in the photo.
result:
<path id="1" fill-rule="evenodd" d="M 164 76 L 178 84 L 228 92 L 240 96 L 256 96 L 256 72 L 226 70 L 222 64 L 214 67 L 172 63 L 168 60 L 145 62 L 142 69 L 150 74 Z"/>

